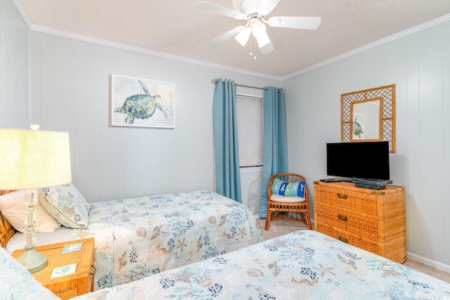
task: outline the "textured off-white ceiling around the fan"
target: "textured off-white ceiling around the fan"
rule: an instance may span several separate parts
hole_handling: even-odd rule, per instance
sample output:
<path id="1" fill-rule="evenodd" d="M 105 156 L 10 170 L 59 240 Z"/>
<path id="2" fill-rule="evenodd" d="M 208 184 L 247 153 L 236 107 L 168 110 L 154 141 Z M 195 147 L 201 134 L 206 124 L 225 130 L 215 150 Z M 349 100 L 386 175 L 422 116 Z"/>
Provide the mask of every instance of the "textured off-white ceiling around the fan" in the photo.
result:
<path id="1" fill-rule="evenodd" d="M 374 41 L 450 13 L 450 0 L 281 0 L 274 15 L 318 16 L 318 30 L 267 27 L 275 51 L 262 55 L 255 41 L 207 42 L 245 25 L 195 5 L 200 0 L 16 0 L 32 30 L 49 27 L 265 74 L 286 77 Z M 233 8 L 232 0 L 208 0 Z M 267 18 L 266 18 L 267 19 Z M 251 48 L 252 46 L 252 48 Z M 257 59 L 250 56 L 256 53 Z"/>

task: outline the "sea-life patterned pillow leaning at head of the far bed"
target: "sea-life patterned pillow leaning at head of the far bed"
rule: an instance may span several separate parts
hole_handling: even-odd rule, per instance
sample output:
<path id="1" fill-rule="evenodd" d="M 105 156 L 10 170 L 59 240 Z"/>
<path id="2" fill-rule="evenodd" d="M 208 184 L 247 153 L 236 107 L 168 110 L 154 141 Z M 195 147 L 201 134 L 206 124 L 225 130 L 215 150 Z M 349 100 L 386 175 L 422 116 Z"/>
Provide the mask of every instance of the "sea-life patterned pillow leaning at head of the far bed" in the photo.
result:
<path id="1" fill-rule="evenodd" d="M 72 183 L 41 188 L 39 200 L 44 209 L 63 226 L 87 227 L 89 203 Z"/>

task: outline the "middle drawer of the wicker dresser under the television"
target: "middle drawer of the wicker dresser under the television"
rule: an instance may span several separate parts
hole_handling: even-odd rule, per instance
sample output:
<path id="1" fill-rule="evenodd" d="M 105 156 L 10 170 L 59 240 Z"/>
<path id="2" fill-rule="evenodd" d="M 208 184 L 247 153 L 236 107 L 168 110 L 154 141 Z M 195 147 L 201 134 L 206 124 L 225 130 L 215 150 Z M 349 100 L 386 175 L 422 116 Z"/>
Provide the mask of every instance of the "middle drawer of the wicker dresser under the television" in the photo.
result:
<path id="1" fill-rule="evenodd" d="M 314 216 L 330 228 L 338 228 L 371 240 L 378 240 L 378 222 L 358 214 L 352 214 L 339 207 L 322 204 L 314 209 Z"/>

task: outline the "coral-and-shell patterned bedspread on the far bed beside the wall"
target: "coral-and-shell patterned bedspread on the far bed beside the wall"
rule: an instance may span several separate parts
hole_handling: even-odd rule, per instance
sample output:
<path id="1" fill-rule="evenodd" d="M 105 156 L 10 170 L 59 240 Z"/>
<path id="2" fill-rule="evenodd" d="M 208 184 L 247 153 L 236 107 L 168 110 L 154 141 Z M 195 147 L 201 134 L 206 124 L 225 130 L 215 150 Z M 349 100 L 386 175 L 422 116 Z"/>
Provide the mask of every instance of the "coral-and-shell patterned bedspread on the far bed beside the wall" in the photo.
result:
<path id="1" fill-rule="evenodd" d="M 95 238 L 94 289 L 210 259 L 263 240 L 245 205 L 210 191 L 92 203 L 88 228 L 74 239 Z"/>

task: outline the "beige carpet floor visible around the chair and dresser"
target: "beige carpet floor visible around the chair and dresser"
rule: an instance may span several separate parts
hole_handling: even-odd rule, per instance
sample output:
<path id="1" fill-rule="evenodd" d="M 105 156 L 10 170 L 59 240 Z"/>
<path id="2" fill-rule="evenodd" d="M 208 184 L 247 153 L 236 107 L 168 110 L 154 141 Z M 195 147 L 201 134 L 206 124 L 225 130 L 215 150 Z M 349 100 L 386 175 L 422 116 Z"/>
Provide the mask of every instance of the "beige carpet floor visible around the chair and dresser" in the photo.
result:
<path id="1" fill-rule="evenodd" d="M 304 223 L 289 220 L 276 220 L 270 222 L 270 228 L 266 231 L 264 230 L 266 219 L 257 219 L 257 222 L 264 240 L 270 240 L 271 238 L 278 237 L 280 235 L 292 233 L 295 230 L 307 229 L 307 226 Z M 439 278 L 440 280 L 450 282 L 450 273 L 439 270 L 438 268 L 427 266 L 423 263 L 419 263 L 418 261 L 413 261 L 412 259 L 406 259 L 403 264 L 405 266 L 409 266 L 409 268 L 413 268 L 435 278 Z"/>

